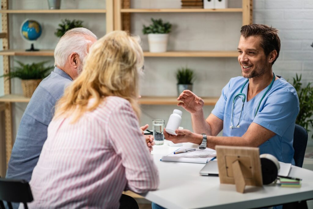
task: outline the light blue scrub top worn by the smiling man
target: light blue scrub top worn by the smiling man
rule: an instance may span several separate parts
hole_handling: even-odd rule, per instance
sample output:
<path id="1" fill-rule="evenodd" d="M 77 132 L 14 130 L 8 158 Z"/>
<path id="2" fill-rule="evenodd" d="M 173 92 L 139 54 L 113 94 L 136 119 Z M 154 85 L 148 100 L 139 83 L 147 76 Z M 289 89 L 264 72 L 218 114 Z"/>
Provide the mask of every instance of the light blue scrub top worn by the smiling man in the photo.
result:
<path id="1" fill-rule="evenodd" d="M 283 78 L 274 81 L 272 88 L 262 100 L 257 115 L 254 117 L 259 102 L 268 86 L 250 99 L 249 102 L 246 99 L 242 120 L 239 123 L 240 128 L 229 128 L 231 126 L 233 97 L 240 92 L 245 81 L 247 79 L 242 76 L 230 79 L 212 110 L 212 114 L 223 120 L 223 136 L 241 137 L 252 122 L 257 123 L 276 133 L 274 137 L 259 146 L 260 154 L 272 154 L 281 162 L 295 165 L 292 144 L 295 119 L 300 110 L 299 98 L 295 88 Z M 248 84 L 242 91 L 245 95 L 247 95 Z M 234 125 L 239 121 L 241 108 L 242 100 L 239 98 L 234 107 Z"/>

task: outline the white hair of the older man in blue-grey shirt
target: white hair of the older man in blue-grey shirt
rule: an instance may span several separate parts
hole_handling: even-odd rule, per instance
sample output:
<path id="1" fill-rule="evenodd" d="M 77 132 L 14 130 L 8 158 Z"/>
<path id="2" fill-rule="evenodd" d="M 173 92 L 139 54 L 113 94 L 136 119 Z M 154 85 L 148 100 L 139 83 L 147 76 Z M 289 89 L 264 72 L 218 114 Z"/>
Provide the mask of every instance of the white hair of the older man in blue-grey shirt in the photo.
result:
<path id="1" fill-rule="evenodd" d="M 73 52 L 79 55 L 80 61 L 83 63 L 89 44 L 92 43 L 88 38 L 97 39 L 97 36 L 86 28 L 73 28 L 66 31 L 55 47 L 54 65 L 64 67 L 67 58 Z"/>

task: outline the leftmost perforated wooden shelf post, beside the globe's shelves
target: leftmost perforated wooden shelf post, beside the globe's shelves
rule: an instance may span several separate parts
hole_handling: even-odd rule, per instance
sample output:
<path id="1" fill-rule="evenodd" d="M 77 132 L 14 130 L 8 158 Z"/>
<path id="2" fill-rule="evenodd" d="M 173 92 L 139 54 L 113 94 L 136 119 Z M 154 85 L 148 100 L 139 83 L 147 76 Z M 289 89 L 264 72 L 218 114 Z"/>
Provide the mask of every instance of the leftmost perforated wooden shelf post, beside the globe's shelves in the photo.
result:
<path id="1" fill-rule="evenodd" d="M 8 0 L 1 0 L 1 9 L 8 9 Z M 8 14 L 2 13 L 2 33 L 7 34 L 5 38 L 2 39 L 3 50 L 9 49 L 9 20 Z M 10 57 L 8 55 L 3 56 L 3 73 L 8 73 L 10 71 Z M 11 83 L 10 79 L 4 80 L 4 94 L 11 93 Z M 12 150 L 12 111 L 11 103 L 5 102 L 5 152 L 6 152 L 6 163 L 8 162 L 11 156 Z"/>

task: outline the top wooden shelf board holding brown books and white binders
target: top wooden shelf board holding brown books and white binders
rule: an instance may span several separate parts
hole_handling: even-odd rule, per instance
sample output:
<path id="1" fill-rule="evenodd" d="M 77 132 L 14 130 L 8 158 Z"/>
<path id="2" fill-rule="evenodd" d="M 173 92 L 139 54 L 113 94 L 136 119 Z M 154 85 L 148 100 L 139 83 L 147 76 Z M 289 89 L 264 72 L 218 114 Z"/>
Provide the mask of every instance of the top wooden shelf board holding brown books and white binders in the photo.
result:
<path id="1" fill-rule="evenodd" d="M 242 12 L 242 8 L 225 8 L 225 9 L 121 9 L 121 13 L 185 13 L 185 12 Z"/>

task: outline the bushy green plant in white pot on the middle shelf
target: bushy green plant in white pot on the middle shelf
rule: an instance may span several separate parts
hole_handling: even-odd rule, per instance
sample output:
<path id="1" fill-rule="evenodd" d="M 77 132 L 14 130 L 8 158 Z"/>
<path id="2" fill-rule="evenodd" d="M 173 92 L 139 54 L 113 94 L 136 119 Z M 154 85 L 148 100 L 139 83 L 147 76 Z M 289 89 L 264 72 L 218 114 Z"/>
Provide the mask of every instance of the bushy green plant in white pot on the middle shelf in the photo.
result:
<path id="1" fill-rule="evenodd" d="M 172 24 L 163 23 L 162 19 L 151 18 L 152 24 L 143 25 L 142 33 L 148 34 L 149 51 L 165 52 L 168 42 L 168 34 L 171 32 Z"/>

